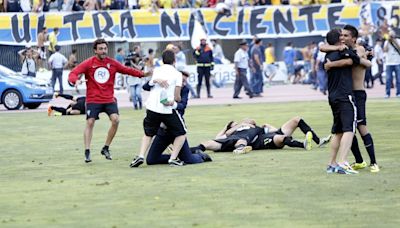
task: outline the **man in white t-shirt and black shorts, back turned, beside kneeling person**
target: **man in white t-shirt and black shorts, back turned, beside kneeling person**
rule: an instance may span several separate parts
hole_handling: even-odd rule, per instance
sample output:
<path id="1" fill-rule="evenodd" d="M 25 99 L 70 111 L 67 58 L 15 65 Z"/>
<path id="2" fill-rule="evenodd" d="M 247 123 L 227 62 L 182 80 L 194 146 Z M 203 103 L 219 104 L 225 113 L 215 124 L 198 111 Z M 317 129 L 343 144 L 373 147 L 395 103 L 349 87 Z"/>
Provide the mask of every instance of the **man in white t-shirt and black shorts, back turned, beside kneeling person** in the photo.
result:
<path id="1" fill-rule="evenodd" d="M 165 50 L 162 54 L 164 65 L 155 68 L 149 84 L 154 85 L 146 101 L 146 117 L 143 121 L 145 135 L 142 139 L 139 155 L 136 156 L 130 167 L 139 167 L 144 163 L 144 156 L 148 150 L 151 139 L 157 134 L 160 125 L 175 136 L 171 157 L 168 163 L 171 166 L 182 166 L 178 154 L 186 140 L 186 126 L 179 112 L 176 110 L 177 102 L 181 100 L 182 73 L 174 67 L 175 53 Z M 166 81 L 165 81 L 166 80 Z M 163 81 L 163 83 L 159 83 Z M 158 82 L 158 83 L 157 83 Z"/>

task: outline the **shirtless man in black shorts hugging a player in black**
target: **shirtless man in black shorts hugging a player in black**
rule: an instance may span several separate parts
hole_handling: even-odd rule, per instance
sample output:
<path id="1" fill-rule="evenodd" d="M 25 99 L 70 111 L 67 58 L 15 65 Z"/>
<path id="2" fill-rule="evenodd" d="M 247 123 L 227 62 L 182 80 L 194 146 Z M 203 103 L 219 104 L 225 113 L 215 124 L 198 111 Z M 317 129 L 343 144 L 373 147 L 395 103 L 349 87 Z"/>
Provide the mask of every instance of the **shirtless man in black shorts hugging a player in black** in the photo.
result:
<path id="1" fill-rule="evenodd" d="M 371 67 L 372 65 L 371 61 L 367 59 L 367 56 L 370 53 L 366 52 L 363 46 L 356 44 L 358 31 L 355 27 L 351 25 L 346 25 L 342 30 L 342 34 L 343 34 L 344 44 L 347 47 L 354 49 L 357 52 L 357 55 L 360 57 L 360 64 L 354 65 L 352 68 L 353 96 L 355 98 L 355 103 L 357 107 L 357 129 L 361 135 L 361 138 L 364 141 L 365 148 L 371 159 L 370 171 L 379 172 L 379 166 L 377 165 L 375 160 L 374 143 L 371 134 L 368 132 L 366 114 L 365 114 L 366 112 L 365 103 L 367 100 L 367 94 L 365 93 L 365 88 L 364 88 L 364 78 L 365 78 L 366 68 Z M 343 48 L 345 47 L 336 46 L 335 49 L 333 46 L 331 46 L 330 48 L 332 48 L 330 50 L 343 50 Z M 331 62 L 330 63 L 331 67 L 332 64 L 338 64 L 338 62 L 339 61 L 337 61 L 337 63 Z M 340 67 L 340 64 L 336 65 L 336 67 Z M 367 163 L 363 161 L 360 149 L 358 147 L 357 137 L 355 135 L 353 137 L 351 150 L 356 159 L 356 162 L 351 165 L 352 168 L 354 170 L 365 168 L 367 166 Z"/>

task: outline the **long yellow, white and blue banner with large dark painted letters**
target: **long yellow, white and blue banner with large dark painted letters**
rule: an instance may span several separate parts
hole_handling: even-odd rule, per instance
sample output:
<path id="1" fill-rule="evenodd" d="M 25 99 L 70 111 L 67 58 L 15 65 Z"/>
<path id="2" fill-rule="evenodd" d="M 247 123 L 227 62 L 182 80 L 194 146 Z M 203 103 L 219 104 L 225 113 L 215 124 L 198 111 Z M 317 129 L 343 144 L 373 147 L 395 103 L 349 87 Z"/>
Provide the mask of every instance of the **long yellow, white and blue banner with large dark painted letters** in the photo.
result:
<path id="1" fill-rule="evenodd" d="M 379 26 L 386 18 L 399 26 L 400 2 L 374 2 L 360 5 L 331 4 L 246 7 L 227 17 L 214 9 L 171 9 L 156 13 L 147 10 L 1 13 L 0 44 L 35 44 L 43 26 L 60 28 L 61 45 L 89 43 L 103 37 L 109 41 L 189 40 L 197 18 L 210 38 L 242 39 L 325 35 L 331 28 L 352 24 L 362 18 Z"/>

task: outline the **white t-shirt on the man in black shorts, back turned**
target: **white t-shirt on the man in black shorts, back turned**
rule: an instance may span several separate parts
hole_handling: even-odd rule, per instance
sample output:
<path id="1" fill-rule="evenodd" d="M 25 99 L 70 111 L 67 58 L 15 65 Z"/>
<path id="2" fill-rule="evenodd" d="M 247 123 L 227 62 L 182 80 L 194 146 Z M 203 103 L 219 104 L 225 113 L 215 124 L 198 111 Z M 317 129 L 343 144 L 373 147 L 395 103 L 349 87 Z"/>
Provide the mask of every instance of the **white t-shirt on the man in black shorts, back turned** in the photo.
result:
<path id="1" fill-rule="evenodd" d="M 154 69 L 150 83 L 153 83 L 156 79 L 167 80 L 169 86 L 165 89 L 159 84 L 155 84 L 150 90 L 149 97 L 146 101 L 146 108 L 156 113 L 171 114 L 173 107 L 165 106 L 160 103 L 161 91 L 166 90 L 168 101 L 173 101 L 175 97 L 175 87 L 182 87 L 182 73 L 177 71 L 174 66 L 164 64 Z"/>

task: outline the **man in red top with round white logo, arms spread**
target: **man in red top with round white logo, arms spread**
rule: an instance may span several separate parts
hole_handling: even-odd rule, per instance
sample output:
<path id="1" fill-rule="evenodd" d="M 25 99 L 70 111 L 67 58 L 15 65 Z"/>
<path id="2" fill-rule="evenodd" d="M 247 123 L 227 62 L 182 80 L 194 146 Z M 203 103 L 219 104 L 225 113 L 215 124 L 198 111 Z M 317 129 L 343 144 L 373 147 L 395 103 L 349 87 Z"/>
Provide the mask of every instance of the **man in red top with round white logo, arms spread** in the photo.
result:
<path id="1" fill-rule="evenodd" d="M 93 44 L 94 56 L 76 66 L 69 74 L 69 82 L 79 85 L 82 81 L 80 74 L 86 79 L 86 128 L 84 131 L 85 162 L 91 162 L 90 143 L 93 135 L 94 123 L 99 119 L 101 112 L 107 113 L 111 120 L 111 127 L 101 154 L 111 160 L 109 146 L 117 133 L 119 114 L 118 105 L 114 98 L 115 73 L 144 77 L 151 72 L 143 73 L 134 68 L 125 67 L 118 61 L 107 57 L 108 43 L 104 39 L 97 39 Z"/>

